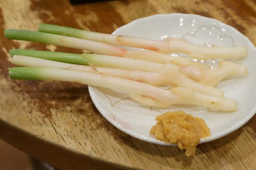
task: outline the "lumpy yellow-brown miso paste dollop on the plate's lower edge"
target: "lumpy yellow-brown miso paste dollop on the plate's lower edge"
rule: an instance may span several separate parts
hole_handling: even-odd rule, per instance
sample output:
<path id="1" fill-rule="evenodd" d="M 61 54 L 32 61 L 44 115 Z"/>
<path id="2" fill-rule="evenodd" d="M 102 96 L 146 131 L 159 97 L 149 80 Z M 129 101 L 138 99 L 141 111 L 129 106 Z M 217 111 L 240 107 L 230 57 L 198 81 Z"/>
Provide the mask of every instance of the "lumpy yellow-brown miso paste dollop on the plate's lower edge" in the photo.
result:
<path id="1" fill-rule="evenodd" d="M 177 143 L 179 149 L 185 149 L 187 156 L 196 152 L 201 138 L 210 136 L 210 130 L 203 119 L 193 117 L 183 111 L 166 112 L 158 115 L 156 125 L 150 134 L 166 143 Z"/>

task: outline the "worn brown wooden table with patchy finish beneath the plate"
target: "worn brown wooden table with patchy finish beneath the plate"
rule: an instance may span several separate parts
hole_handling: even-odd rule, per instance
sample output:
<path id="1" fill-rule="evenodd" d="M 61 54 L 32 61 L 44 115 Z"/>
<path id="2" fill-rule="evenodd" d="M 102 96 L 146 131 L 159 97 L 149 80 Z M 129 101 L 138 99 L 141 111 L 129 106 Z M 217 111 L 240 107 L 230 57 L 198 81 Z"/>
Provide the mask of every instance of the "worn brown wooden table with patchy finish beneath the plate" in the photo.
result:
<path id="1" fill-rule="evenodd" d="M 86 85 L 11 80 L 13 48 L 80 50 L 4 38 L 5 28 L 37 30 L 52 23 L 102 33 L 158 13 L 194 13 L 218 19 L 256 43 L 255 0 L 122 0 L 70 5 L 68 0 L 0 0 L 0 138 L 63 170 L 254 169 L 256 117 L 230 135 L 201 144 L 194 157 L 176 147 L 130 137 L 97 111 Z"/>

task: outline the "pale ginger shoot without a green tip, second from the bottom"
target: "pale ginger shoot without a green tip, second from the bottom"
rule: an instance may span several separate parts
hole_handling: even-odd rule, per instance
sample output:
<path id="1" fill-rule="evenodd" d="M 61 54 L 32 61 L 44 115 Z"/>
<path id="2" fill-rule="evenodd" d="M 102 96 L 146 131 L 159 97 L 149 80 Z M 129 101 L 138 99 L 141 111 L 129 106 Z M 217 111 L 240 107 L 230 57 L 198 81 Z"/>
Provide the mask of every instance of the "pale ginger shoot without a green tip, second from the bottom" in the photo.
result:
<path id="1" fill-rule="evenodd" d="M 166 64 L 164 68 L 155 72 L 140 72 L 138 70 L 124 70 L 115 68 L 104 68 L 95 66 L 81 66 L 78 64 L 69 64 L 57 61 L 44 60 L 42 58 L 15 55 L 12 63 L 25 67 L 49 67 L 68 69 L 88 73 L 97 73 L 102 75 L 114 76 L 129 80 L 144 82 L 150 85 L 159 86 L 163 84 L 172 84 L 177 87 L 187 87 L 203 94 L 212 96 L 223 96 L 223 92 L 212 86 L 205 86 L 188 78 L 181 70 L 173 64 Z"/>

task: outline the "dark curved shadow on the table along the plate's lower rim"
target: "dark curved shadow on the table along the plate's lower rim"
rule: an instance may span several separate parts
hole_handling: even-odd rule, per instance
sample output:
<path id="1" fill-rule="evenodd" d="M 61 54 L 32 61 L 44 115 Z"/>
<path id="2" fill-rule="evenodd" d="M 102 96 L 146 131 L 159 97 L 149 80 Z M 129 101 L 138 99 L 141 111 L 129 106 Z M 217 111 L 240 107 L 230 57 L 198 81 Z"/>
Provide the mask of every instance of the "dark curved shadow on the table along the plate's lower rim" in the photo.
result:
<path id="1" fill-rule="evenodd" d="M 91 108 L 94 110 L 95 115 L 97 115 L 98 118 L 102 117 L 93 104 Z M 175 167 L 173 166 L 174 169 L 182 169 L 184 166 L 190 166 L 192 163 L 197 164 L 196 161 L 198 159 L 201 159 L 202 162 L 205 163 L 204 166 L 206 166 L 207 164 L 214 165 L 223 158 L 232 157 L 230 147 L 233 145 L 230 145 L 230 143 L 234 143 L 236 138 L 238 138 L 242 132 L 242 129 L 238 129 L 225 137 L 212 142 L 200 144 L 197 146 L 196 154 L 193 157 L 187 157 L 185 152 L 181 151 L 177 147 L 155 145 L 131 137 L 115 128 L 103 117 L 101 119 L 101 123 L 102 124 L 98 126 L 98 128 L 104 128 L 118 143 L 122 143 L 122 145 L 126 145 L 128 148 L 133 148 L 134 156 L 137 157 L 142 164 L 146 165 L 146 163 L 144 163 L 144 159 L 142 159 L 144 157 L 148 158 L 152 162 L 165 166 L 168 165 L 169 167 L 172 167 L 172 164 L 175 163 Z M 230 162 L 235 163 L 235 160 L 230 159 Z"/>

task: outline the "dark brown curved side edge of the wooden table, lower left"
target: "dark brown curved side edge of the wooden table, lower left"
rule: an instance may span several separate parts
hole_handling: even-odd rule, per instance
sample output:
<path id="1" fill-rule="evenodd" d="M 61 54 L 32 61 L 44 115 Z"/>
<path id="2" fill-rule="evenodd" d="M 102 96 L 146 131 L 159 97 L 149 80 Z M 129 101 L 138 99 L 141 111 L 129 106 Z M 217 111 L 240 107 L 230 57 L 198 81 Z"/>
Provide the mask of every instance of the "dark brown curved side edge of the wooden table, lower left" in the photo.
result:
<path id="1" fill-rule="evenodd" d="M 90 154 L 81 153 L 60 144 L 53 143 L 42 136 L 17 128 L 1 118 L 0 138 L 21 151 L 30 154 L 32 157 L 63 170 L 70 168 L 83 169 L 82 167 L 86 169 L 89 167 L 90 169 L 99 169 L 101 167 L 105 169 L 110 168 L 111 170 L 138 170 L 138 168 L 134 166 L 113 163 L 101 158 L 93 157 Z M 24 143 L 26 143 L 26 145 L 24 145 Z M 48 155 L 51 155 L 51 157 L 48 157 Z"/>

